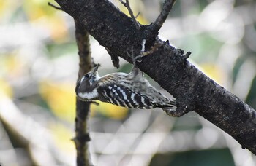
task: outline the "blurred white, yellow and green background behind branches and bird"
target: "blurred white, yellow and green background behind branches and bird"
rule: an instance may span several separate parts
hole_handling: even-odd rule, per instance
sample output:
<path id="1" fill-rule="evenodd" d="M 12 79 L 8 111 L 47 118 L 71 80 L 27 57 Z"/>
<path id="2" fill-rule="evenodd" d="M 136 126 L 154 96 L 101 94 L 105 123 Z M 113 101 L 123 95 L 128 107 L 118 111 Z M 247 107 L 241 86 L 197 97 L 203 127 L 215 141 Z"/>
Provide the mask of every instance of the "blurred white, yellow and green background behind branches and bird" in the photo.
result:
<path id="1" fill-rule="evenodd" d="M 130 0 L 142 24 L 154 21 L 162 2 Z M 256 108 L 255 29 L 255 0 L 178 0 L 159 36 L 191 51 L 191 63 Z M 1 1 L 0 165 L 75 165 L 74 33 L 72 17 L 48 1 Z M 124 60 L 113 68 L 92 37 L 91 52 L 101 76 L 132 68 Z M 172 118 L 100 103 L 91 106 L 90 130 L 94 165 L 256 165 L 250 151 L 195 113 Z"/>

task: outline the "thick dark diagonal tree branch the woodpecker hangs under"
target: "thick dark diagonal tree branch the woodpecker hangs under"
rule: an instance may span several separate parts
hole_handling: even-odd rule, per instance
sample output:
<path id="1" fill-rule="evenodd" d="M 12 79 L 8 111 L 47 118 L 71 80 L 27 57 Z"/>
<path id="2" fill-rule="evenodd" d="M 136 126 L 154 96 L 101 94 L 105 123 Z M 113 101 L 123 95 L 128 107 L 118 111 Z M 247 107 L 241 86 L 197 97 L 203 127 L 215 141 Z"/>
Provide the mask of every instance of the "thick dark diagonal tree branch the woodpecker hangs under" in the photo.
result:
<path id="1" fill-rule="evenodd" d="M 137 31 L 132 20 L 109 1 L 56 1 L 111 56 L 132 63 L 127 49 L 134 47 L 135 53 L 140 54 L 140 43 L 148 26 L 143 25 Z M 143 58 L 138 67 L 176 98 L 177 116 L 196 111 L 256 154 L 255 110 L 195 68 L 186 60 L 189 54 L 184 55 L 168 42 L 147 40 L 146 51 L 156 42 L 162 46 Z"/>

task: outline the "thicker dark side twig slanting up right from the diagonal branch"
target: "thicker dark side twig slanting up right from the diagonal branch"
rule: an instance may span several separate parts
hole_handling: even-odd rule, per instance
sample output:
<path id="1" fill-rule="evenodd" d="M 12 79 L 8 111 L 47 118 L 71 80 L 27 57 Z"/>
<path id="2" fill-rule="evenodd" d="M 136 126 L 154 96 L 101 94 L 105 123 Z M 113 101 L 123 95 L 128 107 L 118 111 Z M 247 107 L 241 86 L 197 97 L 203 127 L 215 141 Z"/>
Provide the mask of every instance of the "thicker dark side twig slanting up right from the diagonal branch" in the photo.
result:
<path id="1" fill-rule="evenodd" d="M 157 20 L 154 21 L 151 25 L 151 32 L 157 33 L 162 27 L 162 24 L 165 23 L 167 16 L 169 15 L 170 10 L 173 8 L 173 4 L 176 0 L 165 0 L 162 7 L 160 15 L 157 17 Z"/>

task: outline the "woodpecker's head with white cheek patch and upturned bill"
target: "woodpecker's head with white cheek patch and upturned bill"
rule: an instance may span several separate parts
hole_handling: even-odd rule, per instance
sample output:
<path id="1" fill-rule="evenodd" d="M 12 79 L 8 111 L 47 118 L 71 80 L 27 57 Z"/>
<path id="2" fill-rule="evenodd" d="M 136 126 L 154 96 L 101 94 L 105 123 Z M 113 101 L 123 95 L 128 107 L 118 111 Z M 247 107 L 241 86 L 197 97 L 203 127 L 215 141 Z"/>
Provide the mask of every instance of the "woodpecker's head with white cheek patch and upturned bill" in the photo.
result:
<path id="1" fill-rule="evenodd" d="M 90 71 L 89 73 L 83 75 L 75 87 L 75 93 L 78 98 L 82 100 L 93 100 L 97 98 L 97 81 L 100 79 L 98 75 L 99 64 Z"/>

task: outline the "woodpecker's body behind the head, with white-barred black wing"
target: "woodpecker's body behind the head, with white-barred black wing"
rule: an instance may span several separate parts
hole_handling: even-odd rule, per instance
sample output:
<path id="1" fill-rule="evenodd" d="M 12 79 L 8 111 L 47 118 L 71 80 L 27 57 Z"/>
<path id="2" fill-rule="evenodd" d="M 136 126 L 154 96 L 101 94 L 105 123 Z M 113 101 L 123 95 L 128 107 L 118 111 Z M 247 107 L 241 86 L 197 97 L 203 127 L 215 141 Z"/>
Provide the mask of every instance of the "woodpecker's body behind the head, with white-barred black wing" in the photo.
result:
<path id="1" fill-rule="evenodd" d="M 98 89 L 102 90 L 102 101 L 128 108 L 168 107 L 175 104 L 152 87 L 143 76 L 135 76 L 132 72 L 104 76 L 99 80 Z"/>

